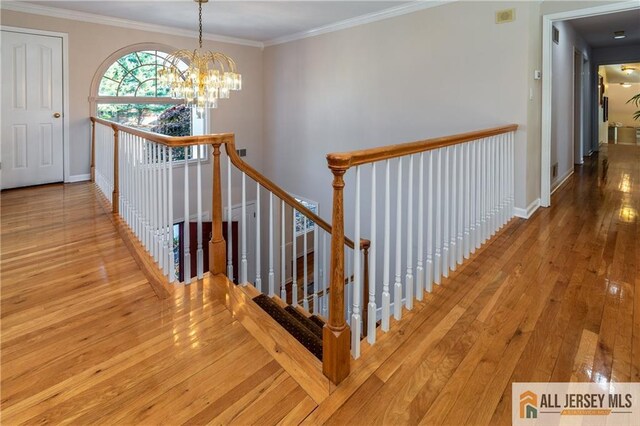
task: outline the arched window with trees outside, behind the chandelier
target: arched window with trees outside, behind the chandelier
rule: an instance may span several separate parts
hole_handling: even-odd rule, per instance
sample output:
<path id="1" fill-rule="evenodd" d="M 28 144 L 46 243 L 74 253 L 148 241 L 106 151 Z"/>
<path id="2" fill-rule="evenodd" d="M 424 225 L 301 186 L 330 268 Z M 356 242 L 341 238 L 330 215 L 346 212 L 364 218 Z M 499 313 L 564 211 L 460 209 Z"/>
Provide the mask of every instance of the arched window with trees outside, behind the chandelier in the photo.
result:
<path id="1" fill-rule="evenodd" d="M 122 49 L 103 62 L 92 84 L 96 116 L 168 136 L 203 134 L 203 117 L 158 83 L 167 56 L 159 47 L 142 44 Z M 183 72 L 187 65 L 180 62 L 177 69 Z M 181 150 L 174 152 L 176 160 L 184 159 Z M 194 155 L 198 154 L 189 158 Z"/>

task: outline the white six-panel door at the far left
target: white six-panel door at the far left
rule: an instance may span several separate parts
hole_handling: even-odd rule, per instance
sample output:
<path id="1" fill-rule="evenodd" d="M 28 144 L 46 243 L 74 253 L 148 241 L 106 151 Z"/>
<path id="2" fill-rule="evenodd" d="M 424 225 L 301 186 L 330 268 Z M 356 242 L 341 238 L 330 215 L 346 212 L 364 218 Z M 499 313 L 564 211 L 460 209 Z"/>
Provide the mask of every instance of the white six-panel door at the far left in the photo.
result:
<path id="1" fill-rule="evenodd" d="M 2 31 L 2 189 L 62 182 L 62 38 Z"/>

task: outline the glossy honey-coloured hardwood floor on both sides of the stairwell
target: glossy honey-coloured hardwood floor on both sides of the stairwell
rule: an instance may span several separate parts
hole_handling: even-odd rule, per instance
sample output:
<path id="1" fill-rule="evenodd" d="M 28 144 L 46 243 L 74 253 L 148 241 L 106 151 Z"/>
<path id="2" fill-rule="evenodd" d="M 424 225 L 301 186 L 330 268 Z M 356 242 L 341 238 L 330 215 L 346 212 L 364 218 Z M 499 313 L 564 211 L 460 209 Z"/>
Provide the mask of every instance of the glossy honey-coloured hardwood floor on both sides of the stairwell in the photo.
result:
<path id="1" fill-rule="evenodd" d="M 603 146 L 319 405 L 206 286 L 158 299 L 90 185 L 1 201 L 4 424 L 509 424 L 514 381 L 640 381 L 640 147 Z"/>

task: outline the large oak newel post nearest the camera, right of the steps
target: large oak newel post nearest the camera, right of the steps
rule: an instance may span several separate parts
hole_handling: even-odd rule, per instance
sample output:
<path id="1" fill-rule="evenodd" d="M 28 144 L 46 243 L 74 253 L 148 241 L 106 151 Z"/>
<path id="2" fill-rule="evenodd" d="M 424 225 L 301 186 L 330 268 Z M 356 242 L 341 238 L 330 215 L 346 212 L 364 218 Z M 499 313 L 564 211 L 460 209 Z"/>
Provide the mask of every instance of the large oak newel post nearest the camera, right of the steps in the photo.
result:
<path id="1" fill-rule="evenodd" d="M 331 283 L 329 322 L 323 329 L 322 372 L 339 384 L 349 375 L 351 332 L 344 318 L 344 173 L 348 169 L 340 158 L 328 158 L 333 172 L 333 230 L 331 233 Z"/>

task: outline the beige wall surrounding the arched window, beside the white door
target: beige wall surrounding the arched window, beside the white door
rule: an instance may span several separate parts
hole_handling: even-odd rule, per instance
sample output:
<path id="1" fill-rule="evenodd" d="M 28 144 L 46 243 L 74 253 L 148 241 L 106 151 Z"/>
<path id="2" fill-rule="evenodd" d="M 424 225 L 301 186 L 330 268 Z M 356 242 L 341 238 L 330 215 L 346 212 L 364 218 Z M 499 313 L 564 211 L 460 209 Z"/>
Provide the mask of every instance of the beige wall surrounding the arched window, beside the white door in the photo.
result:
<path id="1" fill-rule="evenodd" d="M 63 32 L 69 35 L 69 125 L 70 174 L 89 173 L 91 80 L 100 64 L 113 52 L 136 43 L 155 42 L 175 48 L 194 46 L 197 40 L 168 34 L 137 31 L 67 19 L 50 18 L 2 10 L 2 25 Z M 243 90 L 212 113 L 214 132 L 235 132 L 237 143 L 246 147 L 247 160 L 261 168 L 262 158 L 262 50 L 205 41 L 204 47 L 220 50 L 237 62 Z"/>

